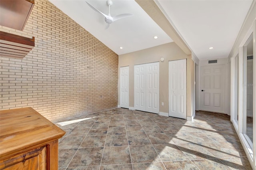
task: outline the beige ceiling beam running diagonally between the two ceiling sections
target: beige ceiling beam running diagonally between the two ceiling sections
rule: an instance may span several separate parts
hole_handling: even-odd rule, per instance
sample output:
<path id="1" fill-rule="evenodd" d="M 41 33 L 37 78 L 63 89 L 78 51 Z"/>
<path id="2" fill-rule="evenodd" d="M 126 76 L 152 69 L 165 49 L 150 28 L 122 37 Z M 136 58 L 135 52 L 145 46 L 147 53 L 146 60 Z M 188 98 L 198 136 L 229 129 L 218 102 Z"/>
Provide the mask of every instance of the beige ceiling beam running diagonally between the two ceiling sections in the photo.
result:
<path id="1" fill-rule="evenodd" d="M 191 54 L 191 50 L 182 40 L 174 27 L 170 24 L 168 19 L 164 16 L 162 11 L 158 8 L 154 0 L 135 0 L 140 7 L 166 32 L 170 38 L 186 53 Z"/>

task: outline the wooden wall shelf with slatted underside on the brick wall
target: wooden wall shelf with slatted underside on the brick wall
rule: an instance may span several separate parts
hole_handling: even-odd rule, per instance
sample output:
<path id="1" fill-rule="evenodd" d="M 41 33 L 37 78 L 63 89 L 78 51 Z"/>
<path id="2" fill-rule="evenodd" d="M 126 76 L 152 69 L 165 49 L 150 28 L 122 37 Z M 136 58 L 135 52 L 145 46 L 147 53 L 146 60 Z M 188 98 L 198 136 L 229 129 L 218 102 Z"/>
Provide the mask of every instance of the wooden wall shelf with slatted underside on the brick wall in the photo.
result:
<path id="1" fill-rule="evenodd" d="M 35 38 L 26 38 L 0 31 L 0 56 L 22 59 L 35 46 Z"/>

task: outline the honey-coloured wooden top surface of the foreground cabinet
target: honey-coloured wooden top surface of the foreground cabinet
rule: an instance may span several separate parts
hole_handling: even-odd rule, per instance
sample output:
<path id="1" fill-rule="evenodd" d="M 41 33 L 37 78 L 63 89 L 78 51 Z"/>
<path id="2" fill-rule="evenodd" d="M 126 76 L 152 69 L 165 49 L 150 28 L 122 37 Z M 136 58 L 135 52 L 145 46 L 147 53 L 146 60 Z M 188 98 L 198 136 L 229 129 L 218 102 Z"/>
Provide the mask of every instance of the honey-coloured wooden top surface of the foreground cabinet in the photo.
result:
<path id="1" fill-rule="evenodd" d="M 0 158 L 39 147 L 64 134 L 31 107 L 0 111 Z"/>

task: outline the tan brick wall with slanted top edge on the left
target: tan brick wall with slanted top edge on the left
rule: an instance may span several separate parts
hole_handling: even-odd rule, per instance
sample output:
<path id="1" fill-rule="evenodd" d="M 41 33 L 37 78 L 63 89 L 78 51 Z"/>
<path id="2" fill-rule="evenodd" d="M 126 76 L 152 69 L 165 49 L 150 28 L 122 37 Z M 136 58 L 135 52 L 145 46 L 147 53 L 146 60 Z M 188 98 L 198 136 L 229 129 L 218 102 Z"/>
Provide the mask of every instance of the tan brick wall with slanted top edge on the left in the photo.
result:
<path id="1" fill-rule="evenodd" d="M 0 110 L 32 107 L 50 121 L 117 107 L 118 55 L 47 0 L 23 30 L 35 37 L 24 59 L 0 57 Z"/>

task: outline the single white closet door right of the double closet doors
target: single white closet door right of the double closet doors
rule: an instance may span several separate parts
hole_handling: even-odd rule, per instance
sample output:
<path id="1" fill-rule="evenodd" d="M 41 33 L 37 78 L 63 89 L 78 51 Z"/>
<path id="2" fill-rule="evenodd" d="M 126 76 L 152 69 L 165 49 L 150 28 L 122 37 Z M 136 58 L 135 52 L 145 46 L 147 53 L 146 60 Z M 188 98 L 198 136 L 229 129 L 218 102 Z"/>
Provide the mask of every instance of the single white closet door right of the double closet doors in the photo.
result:
<path id="1" fill-rule="evenodd" d="M 169 61 L 169 116 L 187 118 L 186 59 Z"/>

